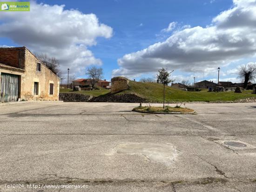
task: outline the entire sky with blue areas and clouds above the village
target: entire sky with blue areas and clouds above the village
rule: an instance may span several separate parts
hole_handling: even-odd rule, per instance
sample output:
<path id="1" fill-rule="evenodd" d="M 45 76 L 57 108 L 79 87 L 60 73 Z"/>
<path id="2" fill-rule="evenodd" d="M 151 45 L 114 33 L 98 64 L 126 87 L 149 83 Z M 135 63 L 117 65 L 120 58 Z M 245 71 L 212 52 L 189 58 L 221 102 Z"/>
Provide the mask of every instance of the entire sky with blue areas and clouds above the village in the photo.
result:
<path id="1" fill-rule="evenodd" d="M 0 0 L 2 1 L 2 0 Z M 0 12 L 0 46 L 26 46 L 60 61 L 63 76 L 240 82 L 256 62 L 256 0 L 37 0 L 30 12 Z"/>

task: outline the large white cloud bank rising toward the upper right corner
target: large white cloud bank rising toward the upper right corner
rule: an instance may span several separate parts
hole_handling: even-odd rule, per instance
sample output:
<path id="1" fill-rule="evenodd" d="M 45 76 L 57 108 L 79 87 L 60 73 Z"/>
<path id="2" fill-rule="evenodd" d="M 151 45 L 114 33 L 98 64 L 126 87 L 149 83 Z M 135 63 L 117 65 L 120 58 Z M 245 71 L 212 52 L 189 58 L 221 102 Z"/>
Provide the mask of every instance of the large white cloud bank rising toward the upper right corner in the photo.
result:
<path id="1" fill-rule="evenodd" d="M 124 55 L 112 75 L 139 76 L 168 67 L 205 74 L 256 53 L 256 0 L 234 0 L 207 27 L 175 31 L 163 42 Z"/>

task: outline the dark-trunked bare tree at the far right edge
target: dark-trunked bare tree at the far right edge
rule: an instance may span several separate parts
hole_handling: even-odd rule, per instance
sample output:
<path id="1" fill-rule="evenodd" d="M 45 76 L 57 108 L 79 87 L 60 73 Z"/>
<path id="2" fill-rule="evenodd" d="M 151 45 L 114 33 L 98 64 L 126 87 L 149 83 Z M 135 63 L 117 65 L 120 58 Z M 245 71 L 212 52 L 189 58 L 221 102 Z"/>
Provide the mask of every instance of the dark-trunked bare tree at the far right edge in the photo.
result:
<path id="1" fill-rule="evenodd" d="M 247 65 L 240 66 L 238 69 L 238 78 L 243 80 L 243 88 L 246 89 L 249 80 L 253 81 L 256 78 L 255 63 L 248 63 Z"/>

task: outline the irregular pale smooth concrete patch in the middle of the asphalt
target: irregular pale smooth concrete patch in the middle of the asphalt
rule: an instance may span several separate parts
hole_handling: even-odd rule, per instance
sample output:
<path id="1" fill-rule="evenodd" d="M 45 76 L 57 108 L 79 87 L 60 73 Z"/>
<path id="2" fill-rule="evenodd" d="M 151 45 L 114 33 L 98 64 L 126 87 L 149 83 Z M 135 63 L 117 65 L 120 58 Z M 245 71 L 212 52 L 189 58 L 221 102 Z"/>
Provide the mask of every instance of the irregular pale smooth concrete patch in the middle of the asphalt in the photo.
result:
<path id="1" fill-rule="evenodd" d="M 115 147 L 117 153 L 141 154 L 150 161 L 169 166 L 179 151 L 168 143 L 123 143 Z"/>

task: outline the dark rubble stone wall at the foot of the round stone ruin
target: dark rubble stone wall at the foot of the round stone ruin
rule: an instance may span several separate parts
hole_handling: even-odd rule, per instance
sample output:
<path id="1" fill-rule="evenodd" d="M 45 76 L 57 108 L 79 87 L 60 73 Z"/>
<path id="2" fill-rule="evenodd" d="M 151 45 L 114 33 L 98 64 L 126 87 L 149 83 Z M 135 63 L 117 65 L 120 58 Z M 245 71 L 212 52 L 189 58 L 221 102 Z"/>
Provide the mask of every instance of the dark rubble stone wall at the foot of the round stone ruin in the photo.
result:
<path id="1" fill-rule="evenodd" d="M 136 94 L 108 94 L 102 97 L 94 97 L 90 102 L 119 102 L 119 103 L 140 103 L 146 99 L 139 97 Z"/>

